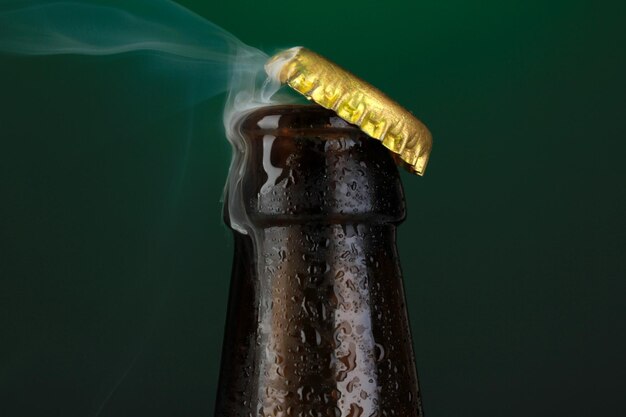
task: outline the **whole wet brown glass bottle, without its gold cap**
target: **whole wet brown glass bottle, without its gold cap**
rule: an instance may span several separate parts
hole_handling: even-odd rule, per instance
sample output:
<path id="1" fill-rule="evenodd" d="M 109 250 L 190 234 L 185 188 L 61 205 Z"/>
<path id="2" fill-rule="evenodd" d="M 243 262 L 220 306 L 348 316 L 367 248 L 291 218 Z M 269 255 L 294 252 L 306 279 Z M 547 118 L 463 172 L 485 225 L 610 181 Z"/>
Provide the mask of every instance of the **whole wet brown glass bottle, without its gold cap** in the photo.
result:
<path id="1" fill-rule="evenodd" d="M 317 106 L 262 108 L 241 132 L 216 417 L 422 416 L 392 157 Z"/>

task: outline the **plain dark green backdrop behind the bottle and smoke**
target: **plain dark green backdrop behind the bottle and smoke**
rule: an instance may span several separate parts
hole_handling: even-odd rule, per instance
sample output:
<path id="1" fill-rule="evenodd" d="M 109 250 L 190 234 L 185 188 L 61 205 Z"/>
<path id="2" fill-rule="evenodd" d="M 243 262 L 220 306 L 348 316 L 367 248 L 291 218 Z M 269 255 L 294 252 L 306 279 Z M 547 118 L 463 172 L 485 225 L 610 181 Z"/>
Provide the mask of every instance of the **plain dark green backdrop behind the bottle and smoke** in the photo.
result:
<path id="1" fill-rule="evenodd" d="M 624 415 L 624 2 L 180 3 L 431 128 L 398 242 L 427 417 Z M 221 102 L 151 118 L 177 93 L 116 89 L 136 59 L 0 58 L 0 416 L 213 414 Z"/>

